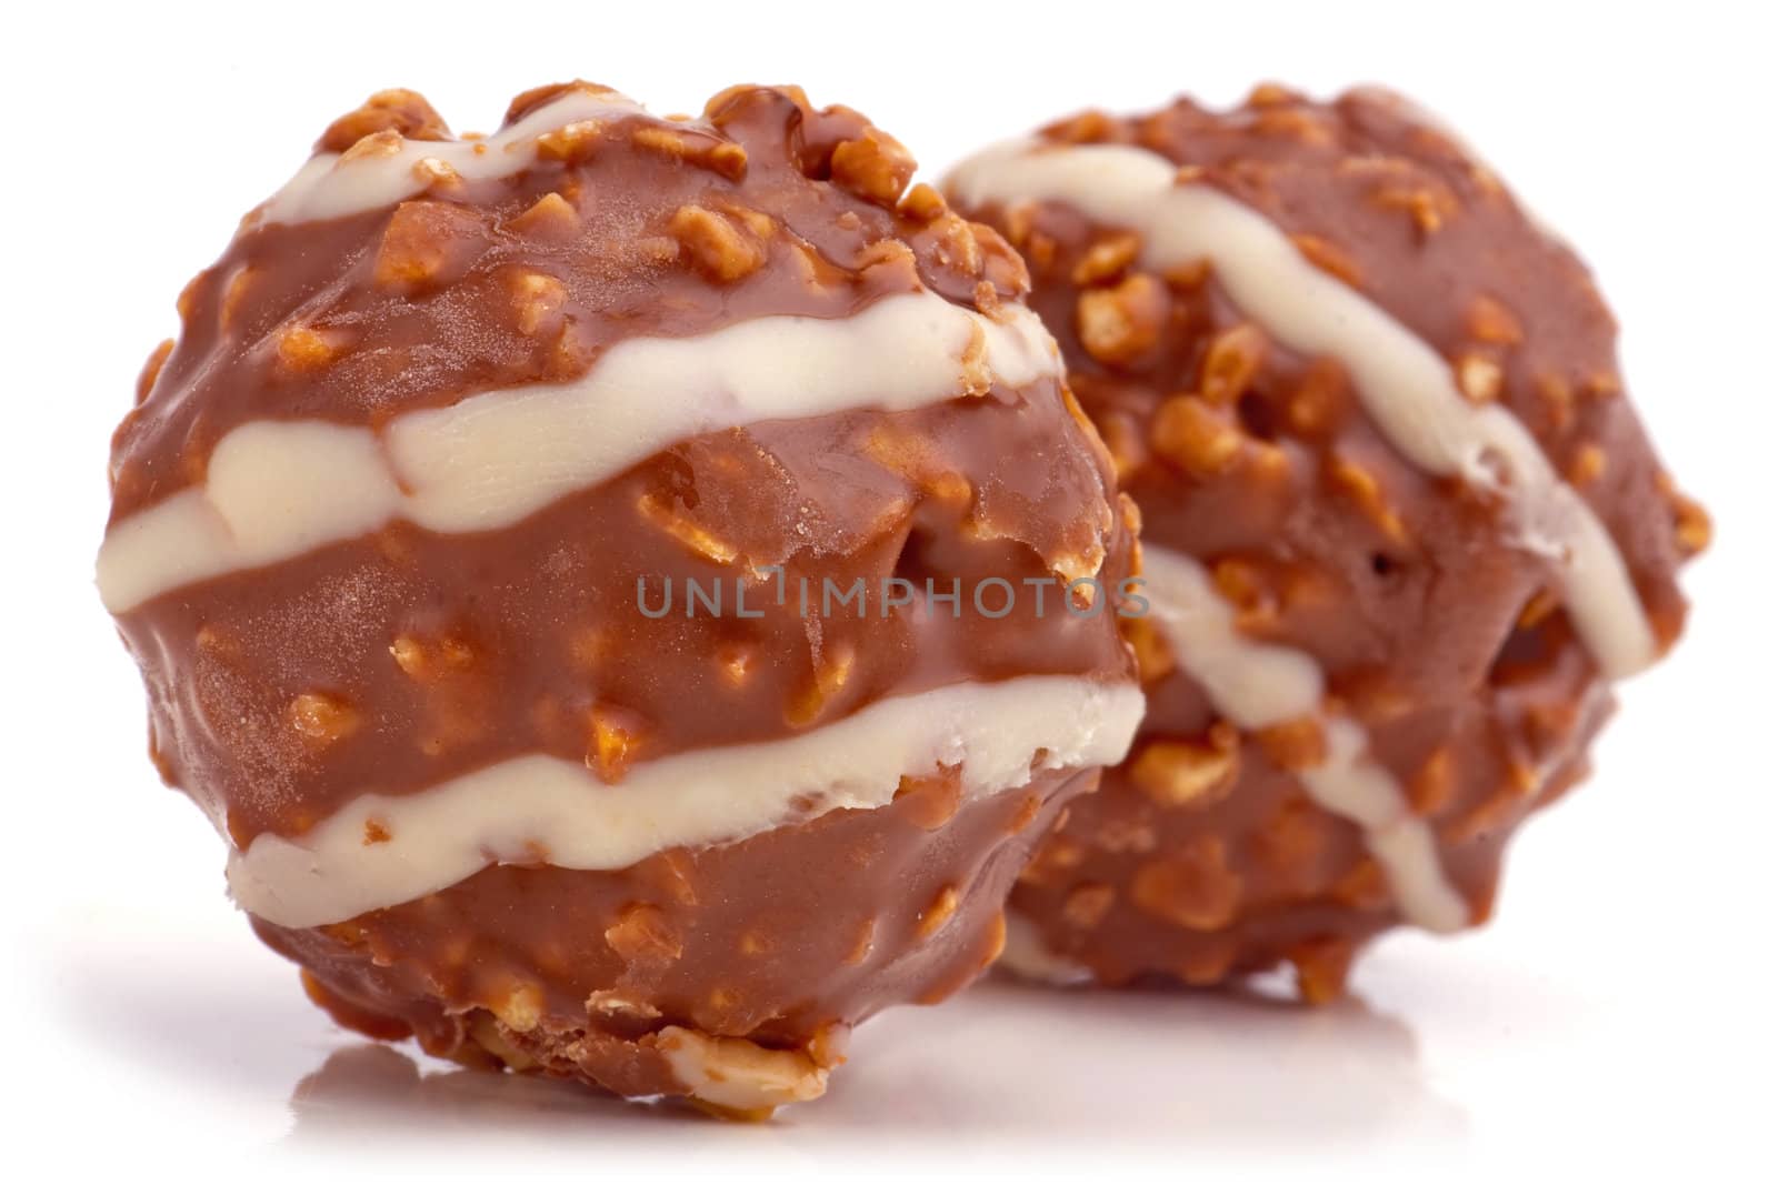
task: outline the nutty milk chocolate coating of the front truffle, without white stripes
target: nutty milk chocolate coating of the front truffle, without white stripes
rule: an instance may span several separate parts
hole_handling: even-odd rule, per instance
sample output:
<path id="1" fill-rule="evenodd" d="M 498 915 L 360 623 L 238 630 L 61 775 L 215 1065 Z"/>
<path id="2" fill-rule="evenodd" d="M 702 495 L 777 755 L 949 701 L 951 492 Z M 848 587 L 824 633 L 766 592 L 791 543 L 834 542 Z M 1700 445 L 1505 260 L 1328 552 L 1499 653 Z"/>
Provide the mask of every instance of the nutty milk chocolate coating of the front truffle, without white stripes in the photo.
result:
<path id="1" fill-rule="evenodd" d="M 521 96 L 509 123 L 562 92 Z M 386 92 L 320 147 L 379 151 L 396 133 L 450 137 L 423 99 Z M 201 483 L 217 441 L 254 421 L 379 428 L 573 380 L 635 338 L 841 320 L 921 290 L 989 318 L 1022 300 L 997 235 L 928 187 L 903 194 L 912 160 L 894 140 L 793 87 L 736 87 L 699 121 L 613 117 L 581 140 L 393 208 L 244 220 L 187 288 L 181 336 L 117 430 L 112 524 Z M 119 627 L 162 775 L 245 849 L 300 839 L 366 789 L 423 794 L 517 755 L 617 783 L 635 762 L 784 739 L 949 684 L 1129 684 L 1113 613 L 1058 611 L 1058 570 L 1086 565 L 1113 595 L 1131 570 L 1133 512 L 1113 485 L 1058 378 L 994 382 L 914 410 L 692 435 L 512 526 L 393 521 L 162 592 Z M 1056 585 L 1045 613 L 1021 597 L 960 622 L 875 604 L 864 620 L 804 616 L 795 595 L 745 620 L 638 611 L 638 577 L 708 586 L 766 565 L 791 588 Z M 615 752 L 599 718 L 621 723 Z M 626 869 L 542 851 L 350 920 L 254 927 L 341 1023 L 436 1054 L 688 1094 L 660 1050 L 690 1030 L 825 1073 L 845 1029 L 992 961 L 1012 878 L 1092 780 L 1040 771 L 958 803 L 955 776 L 910 778 L 878 810 Z"/>

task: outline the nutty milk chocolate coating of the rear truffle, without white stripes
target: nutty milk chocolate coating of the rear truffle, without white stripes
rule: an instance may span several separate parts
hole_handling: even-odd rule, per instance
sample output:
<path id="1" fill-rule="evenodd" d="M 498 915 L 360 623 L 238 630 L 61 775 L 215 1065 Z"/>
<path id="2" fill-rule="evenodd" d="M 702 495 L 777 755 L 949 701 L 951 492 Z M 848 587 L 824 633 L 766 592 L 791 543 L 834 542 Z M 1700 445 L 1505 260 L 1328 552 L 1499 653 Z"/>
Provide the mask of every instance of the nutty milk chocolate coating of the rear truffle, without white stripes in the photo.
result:
<path id="1" fill-rule="evenodd" d="M 1376 91 L 1316 103 L 1261 87 L 1229 112 L 1179 99 L 1042 139 L 1147 149 L 1277 224 L 1449 359 L 1469 398 L 1529 428 L 1609 529 L 1661 647 L 1678 636 L 1675 570 L 1707 521 L 1645 439 L 1582 263 L 1449 135 Z M 1246 636 L 1319 663 L 1332 709 L 1369 732 L 1485 920 L 1506 839 L 1584 775 L 1611 702 L 1549 560 L 1515 542 L 1497 499 L 1401 457 L 1342 368 L 1268 338 L 1213 268 L 1147 274 L 1140 235 L 1065 203 L 964 211 L 1024 254 L 1143 544 L 1204 565 Z M 1291 773 L 1312 760 L 1305 737 L 1220 721 L 1152 624 L 1131 625 L 1149 695 L 1136 746 L 1070 808 L 1012 908 L 1101 982 L 1291 963 L 1307 998 L 1339 993 L 1353 952 L 1401 922 L 1362 833 Z M 1170 801 L 1163 775 L 1182 760 L 1216 764 Z"/>

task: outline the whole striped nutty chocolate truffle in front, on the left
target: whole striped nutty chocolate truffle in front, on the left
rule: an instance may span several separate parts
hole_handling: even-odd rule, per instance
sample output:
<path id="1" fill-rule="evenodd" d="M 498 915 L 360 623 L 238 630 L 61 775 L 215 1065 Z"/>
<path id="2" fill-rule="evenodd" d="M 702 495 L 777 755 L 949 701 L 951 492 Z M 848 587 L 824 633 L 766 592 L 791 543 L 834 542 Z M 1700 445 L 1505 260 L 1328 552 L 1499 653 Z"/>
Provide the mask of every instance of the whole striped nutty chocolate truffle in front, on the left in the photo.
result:
<path id="1" fill-rule="evenodd" d="M 996 958 L 1141 716 L 1134 510 L 912 169 L 793 87 L 391 91 L 185 290 L 100 586 L 341 1023 L 757 1114 Z"/>

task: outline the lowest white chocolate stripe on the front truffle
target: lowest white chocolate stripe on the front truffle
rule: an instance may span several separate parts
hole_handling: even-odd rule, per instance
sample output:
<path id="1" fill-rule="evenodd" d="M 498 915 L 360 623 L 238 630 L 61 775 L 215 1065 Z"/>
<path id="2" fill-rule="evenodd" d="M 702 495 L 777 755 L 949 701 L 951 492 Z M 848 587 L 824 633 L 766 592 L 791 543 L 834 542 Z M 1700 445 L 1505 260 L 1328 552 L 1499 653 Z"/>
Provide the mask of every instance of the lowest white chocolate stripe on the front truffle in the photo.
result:
<path id="1" fill-rule="evenodd" d="M 697 750 L 629 769 L 528 755 L 405 794 L 364 794 L 300 839 L 229 855 L 235 901 L 277 926 L 324 926 L 423 897 L 500 862 L 624 869 L 669 847 L 734 842 L 829 810 L 873 810 L 903 775 L 960 767 L 965 798 L 1038 769 L 1124 759 L 1141 691 L 1072 675 L 955 684 L 871 704 L 782 741 Z M 388 840 L 366 842 L 375 823 Z"/>

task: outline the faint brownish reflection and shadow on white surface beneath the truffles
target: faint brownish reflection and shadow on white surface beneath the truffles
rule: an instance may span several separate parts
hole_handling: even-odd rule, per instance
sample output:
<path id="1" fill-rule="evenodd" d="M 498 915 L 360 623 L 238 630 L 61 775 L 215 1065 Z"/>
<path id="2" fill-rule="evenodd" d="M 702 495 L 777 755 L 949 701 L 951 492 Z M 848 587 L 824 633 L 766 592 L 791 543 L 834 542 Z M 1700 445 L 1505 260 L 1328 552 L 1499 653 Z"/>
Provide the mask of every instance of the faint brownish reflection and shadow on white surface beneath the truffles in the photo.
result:
<path id="1" fill-rule="evenodd" d="M 219 919 L 233 920 L 233 919 Z M 734 1126 L 596 1091 L 464 1070 L 375 1045 L 313 1009 L 293 968 L 252 950 L 153 950 L 124 934 L 64 949 L 73 1029 L 160 1089 L 220 1107 L 236 1133 L 352 1153 L 466 1149 L 821 1148 L 878 1137 L 926 1146 L 1049 1141 L 1316 1151 L 1460 1139 L 1426 1084 L 1414 1034 L 1358 1000 L 1303 1009 L 1261 995 L 1056 991 L 990 981 L 939 1009 L 866 1025 L 827 1098 Z"/>

